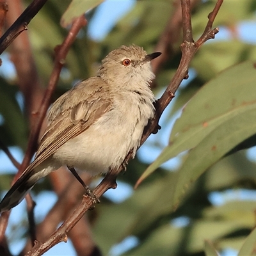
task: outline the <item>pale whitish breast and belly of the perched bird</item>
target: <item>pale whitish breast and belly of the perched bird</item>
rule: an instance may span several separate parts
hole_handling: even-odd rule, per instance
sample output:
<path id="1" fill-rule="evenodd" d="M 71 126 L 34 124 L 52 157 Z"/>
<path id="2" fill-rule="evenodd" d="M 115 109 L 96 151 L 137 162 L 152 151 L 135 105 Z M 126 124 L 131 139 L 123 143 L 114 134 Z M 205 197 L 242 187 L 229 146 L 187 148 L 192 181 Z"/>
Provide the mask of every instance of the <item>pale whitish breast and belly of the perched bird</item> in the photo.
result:
<path id="1" fill-rule="evenodd" d="M 148 119 L 154 115 L 154 95 L 149 90 L 118 93 L 113 110 L 53 155 L 61 164 L 97 175 L 120 166 L 128 152 L 134 155 Z M 120 99 L 123 97 L 123 99 Z"/>

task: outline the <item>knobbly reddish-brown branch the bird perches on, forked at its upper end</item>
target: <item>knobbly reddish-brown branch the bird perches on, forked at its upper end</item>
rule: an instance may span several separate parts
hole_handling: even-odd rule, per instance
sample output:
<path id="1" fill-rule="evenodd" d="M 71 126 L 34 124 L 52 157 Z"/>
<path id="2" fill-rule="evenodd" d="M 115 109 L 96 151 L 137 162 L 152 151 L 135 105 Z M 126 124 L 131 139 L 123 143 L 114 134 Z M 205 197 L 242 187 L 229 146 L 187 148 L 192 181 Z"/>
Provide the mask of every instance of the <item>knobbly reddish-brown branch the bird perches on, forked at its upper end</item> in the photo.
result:
<path id="1" fill-rule="evenodd" d="M 162 97 L 157 101 L 156 115 L 154 119 L 150 122 L 150 124 L 146 127 L 143 137 L 141 138 L 141 145 L 144 143 L 145 140 L 147 140 L 148 136 L 152 132 L 156 131 L 159 118 L 161 117 L 164 109 L 166 108 L 166 106 L 168 106 L 168 104 L 170 104 L 171 100 L 175 96 L 175 92 L 179 88 L 182 80 L 188 77 L 189 63 L 195 55 L 195 52 L 202 44 L 204 44 L 206 40 L 208 40 L 209 38 L 214 38 L 212 35 L 218 33 L 218 29 L 212 29 L 212 22 L 214 21 L 222 2 L 223 0 L 218 0 L 218 2 L 216 3 L 217 7 L 215 6 L 214 11 L 212 12 L 213 14 L 209 16 L 209 20 L 211 19 L 211 22 L 207 23 L 207 27 L 205 28 L 205 31 L 201 36 L 201 38 L 204 38 L 204 40 L 198 40 L 196 43 L 194 43 L 191 28 L 190 2 L 188 0 L 181 0 L 182 19 L 185 20 L 182 24 L 183 31 L 185 31 L 183 34 L 184 38 L 183 43 L 180 45 L 182 51 L 182 58 L 180 60 L 180 65 L 177 69 L 175 76 L 173 77 L 166 91 L 163 93 Z M 125 162 L 131 160 L 131 156 L 132 154 L 130 152 L 126 157 Z M 100 197 L 109 188 L 115 189 L 116 176 L 122 171 L 122 169 L 123 166 L 120 166 L 119 168 L 111 170 L 94 190 L 95 195 Z M 54 246 L 55 244 L 58 244 L 61 241 L 67 241 L 67 233 L 74 227 L 74 225 L 76 225 L 76 223 L 83 217 L 84 212 L 88 211 L 88 209 L 90 209 L 92 205 L 92 198 L 84 195 L 81 205 L 79 205 L 79 207 L 75 209 L 73 214 L 66 221 L 64 221 L 60 228 L 58 228 L 58 230 L 56 230 L 51 235 L 51 237 L 49 237 L 49 239 L 45 241 L 45 243 L 40 243 L 36 241 L 35 246 L 31 250 L 31 252 L 28 253 L 28 255 L 42 255 L 42 253 L 47 252 L 47 250 L 49 250 L 49 248 L 52 248 L 52 246 Z"/>

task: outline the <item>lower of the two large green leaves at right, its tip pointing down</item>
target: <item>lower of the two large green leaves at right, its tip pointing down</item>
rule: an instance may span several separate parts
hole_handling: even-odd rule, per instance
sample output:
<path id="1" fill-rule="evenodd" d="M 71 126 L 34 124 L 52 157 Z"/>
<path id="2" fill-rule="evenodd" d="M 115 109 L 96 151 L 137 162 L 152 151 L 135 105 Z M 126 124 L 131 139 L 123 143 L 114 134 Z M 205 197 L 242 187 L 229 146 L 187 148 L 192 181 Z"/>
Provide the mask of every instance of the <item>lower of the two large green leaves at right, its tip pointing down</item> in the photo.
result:
<path id="1" fill-rule="evenodd" d="M 239 142 L 245 140 L 256 131 L 256 101 L 246 105 L 239 115 L 228 118 L 220 124 L 204 140 L 202 140 L 188 155 L 179 170 L 179 177 L 173 198 L 177 207 L 180 197 L 195 182 L 202 173 Z"/>

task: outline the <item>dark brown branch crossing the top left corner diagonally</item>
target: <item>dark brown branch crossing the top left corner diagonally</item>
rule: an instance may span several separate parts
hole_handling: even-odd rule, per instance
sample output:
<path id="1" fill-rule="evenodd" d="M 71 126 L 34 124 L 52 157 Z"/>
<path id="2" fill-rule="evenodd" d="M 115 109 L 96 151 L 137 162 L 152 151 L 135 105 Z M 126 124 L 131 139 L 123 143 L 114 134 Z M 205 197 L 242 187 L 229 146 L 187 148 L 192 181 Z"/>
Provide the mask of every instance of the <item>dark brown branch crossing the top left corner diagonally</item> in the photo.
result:
<path id="1" fill-rule="evenodd" d="M 13 40 L 28 29 L 28 24 L 36 13 L 44 6 L 47 0 L 34 0 L 0 38 L 0 54 L 13 42 Z"/>

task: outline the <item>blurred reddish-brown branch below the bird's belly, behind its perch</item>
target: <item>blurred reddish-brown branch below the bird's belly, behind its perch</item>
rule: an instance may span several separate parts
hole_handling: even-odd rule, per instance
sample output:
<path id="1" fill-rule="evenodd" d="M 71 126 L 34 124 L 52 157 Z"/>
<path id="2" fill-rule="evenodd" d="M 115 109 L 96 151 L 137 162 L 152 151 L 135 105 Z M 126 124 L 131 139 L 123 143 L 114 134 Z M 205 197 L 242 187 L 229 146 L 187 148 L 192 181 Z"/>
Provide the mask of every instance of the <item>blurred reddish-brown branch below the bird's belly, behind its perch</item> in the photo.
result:
<path id="1" fill-rule="evenodd" d="M 77 180 L 67 170 L 63 169 L 61 168 L 51 173 L 51 183 L 54 185 L 54 191 L 58 195 L 58 202 L 52 207 L 42 223 L 36 227 L 36 237 L 39 241 L 44 241 L 47 237 L 51 236 L 59 223 L 68 218 L 73 211 L 72 209 L 80 203 L 81 199 L 79 198 L 84 193 L 83 186 L 77 185 Z M 85 172 L 81 173 L 81 178 L 86 184 L 90 184 L 92 179 Z M 76 225 L 68 233 L 68 237 L 71 239 L 77 255 L 92 255 L 92 252 L 97 250 L 97 246 L 92 239 L 90 223 L 88 223 L 87 218 L 82 218 L 79 221 L 79 225 Z M 77 239 L 77 237 L 80 237 L 80 239 Z M 84 237 L 84 239 L 81 237 Z M 31 250 L 31 243 L 27 242 L 20 255 L 24 255 L 29 250 Z"/>

